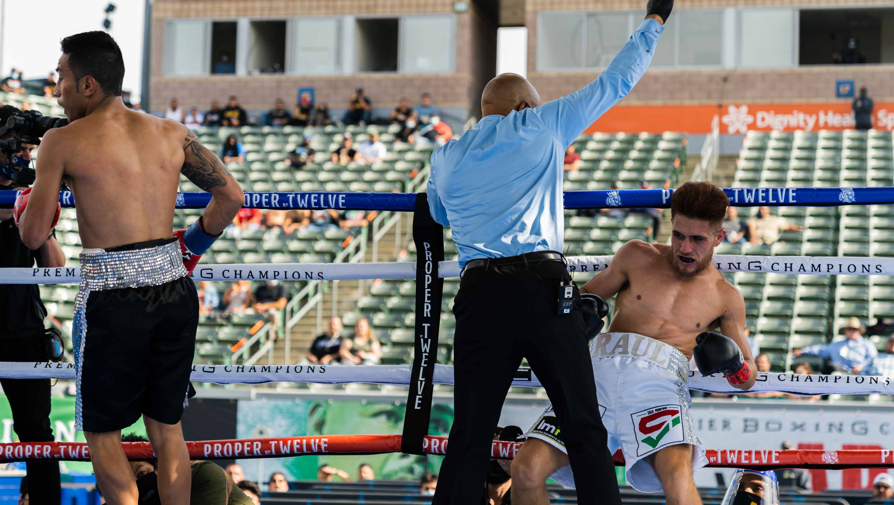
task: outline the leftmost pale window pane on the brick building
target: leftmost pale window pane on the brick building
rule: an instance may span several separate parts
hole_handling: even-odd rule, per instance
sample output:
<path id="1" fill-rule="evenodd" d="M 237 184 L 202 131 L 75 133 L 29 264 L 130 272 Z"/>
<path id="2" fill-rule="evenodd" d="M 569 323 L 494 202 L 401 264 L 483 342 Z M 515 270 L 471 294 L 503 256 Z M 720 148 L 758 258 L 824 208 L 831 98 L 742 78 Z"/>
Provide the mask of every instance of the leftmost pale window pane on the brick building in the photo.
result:
<path id="1" fill-rule="evenodd" d="M 207 73 L 208 21 L 164 23 L 164 75 Z"/>

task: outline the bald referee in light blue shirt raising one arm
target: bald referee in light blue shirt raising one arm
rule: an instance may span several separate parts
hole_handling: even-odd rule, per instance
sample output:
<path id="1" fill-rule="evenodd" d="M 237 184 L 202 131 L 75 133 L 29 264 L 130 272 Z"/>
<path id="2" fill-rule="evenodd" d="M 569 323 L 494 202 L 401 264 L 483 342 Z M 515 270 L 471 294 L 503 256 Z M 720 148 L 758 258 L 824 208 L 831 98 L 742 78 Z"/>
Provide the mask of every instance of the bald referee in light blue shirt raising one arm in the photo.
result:
<path id="1" fill-rule="evenodd" d="M 455 419 L 434 505 L 481 500 L 493 426 L 522 358 L 549 394 L 568 437 L 578 502 L 620 504 L 577 287 L 561 254 L 565 149 L 627 96 L 652 61 L 673 0 L 651 0 L 645 21 L 596 80 L 541 105 L 525 78 L 498 75 L 481 97 L 484 117 L 432 154 L 428 202 L 452 229 L 464 268 L 456 295 Z M 513 496 L 524 504 L 545 496 Z"/>

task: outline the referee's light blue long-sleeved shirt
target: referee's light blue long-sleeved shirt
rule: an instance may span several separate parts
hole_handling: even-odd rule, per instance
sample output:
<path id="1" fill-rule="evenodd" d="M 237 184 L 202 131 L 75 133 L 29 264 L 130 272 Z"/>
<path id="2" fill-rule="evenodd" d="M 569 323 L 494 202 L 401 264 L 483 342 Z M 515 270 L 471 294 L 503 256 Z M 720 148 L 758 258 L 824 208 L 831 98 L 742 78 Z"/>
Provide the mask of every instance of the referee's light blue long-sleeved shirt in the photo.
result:
<path id="1" fill-rule="evenodd" d="M 562 251 L 565 149 L 626 97 L 664 28 L 645 20 L 584 88 L 533 109 L 485 116 L 432 153 L 428 206 L 452 228 L 460 267 L 479 257 Z"/>

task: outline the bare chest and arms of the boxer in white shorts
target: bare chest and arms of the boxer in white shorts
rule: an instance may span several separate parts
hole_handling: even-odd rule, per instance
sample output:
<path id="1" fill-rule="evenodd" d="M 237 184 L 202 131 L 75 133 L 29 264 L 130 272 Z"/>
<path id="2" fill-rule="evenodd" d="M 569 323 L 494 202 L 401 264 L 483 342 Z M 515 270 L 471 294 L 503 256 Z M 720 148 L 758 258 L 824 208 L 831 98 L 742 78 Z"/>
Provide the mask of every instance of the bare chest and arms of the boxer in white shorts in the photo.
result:
<path id="1" fill-rule="evenodd" d="M 664 341 L 690 358 L 696 336 L 722 325 L 724 334 L 742 348 L 742 295 L 713 265 L 693 277 L 680 275 L 670 255 L 670 246 L 631 240 L 603 273 L 586 283 L 586 292 L 603 299 L 617 294 L 608 331 Z"/>

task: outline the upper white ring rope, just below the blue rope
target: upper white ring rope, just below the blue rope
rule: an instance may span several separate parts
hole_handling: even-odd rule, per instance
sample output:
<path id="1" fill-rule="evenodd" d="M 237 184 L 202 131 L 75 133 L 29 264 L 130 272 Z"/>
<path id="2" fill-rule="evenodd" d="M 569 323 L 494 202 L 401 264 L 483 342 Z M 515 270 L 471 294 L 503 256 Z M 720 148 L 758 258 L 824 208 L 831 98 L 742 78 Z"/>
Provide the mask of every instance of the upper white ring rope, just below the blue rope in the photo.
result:
<path id="1" fill-rule="evenodd" d="M 594 273 L 609 265 L 611 256 L 568 257 L 572 273 Z M 721 272 L 799 275 L 894 275 L 894 257 L 805 257 L 715 255 Z M 440 263 L 439 276 L 459 277 L 456 261 Z M 344 281 L 351 279 L 415 279 L 416 262 L 396 263 L 254 263 L 198 265 L 197 281 Z M 0 268 L 0 283 L 63 284 L 80 282 L 80 268 Z"/>

